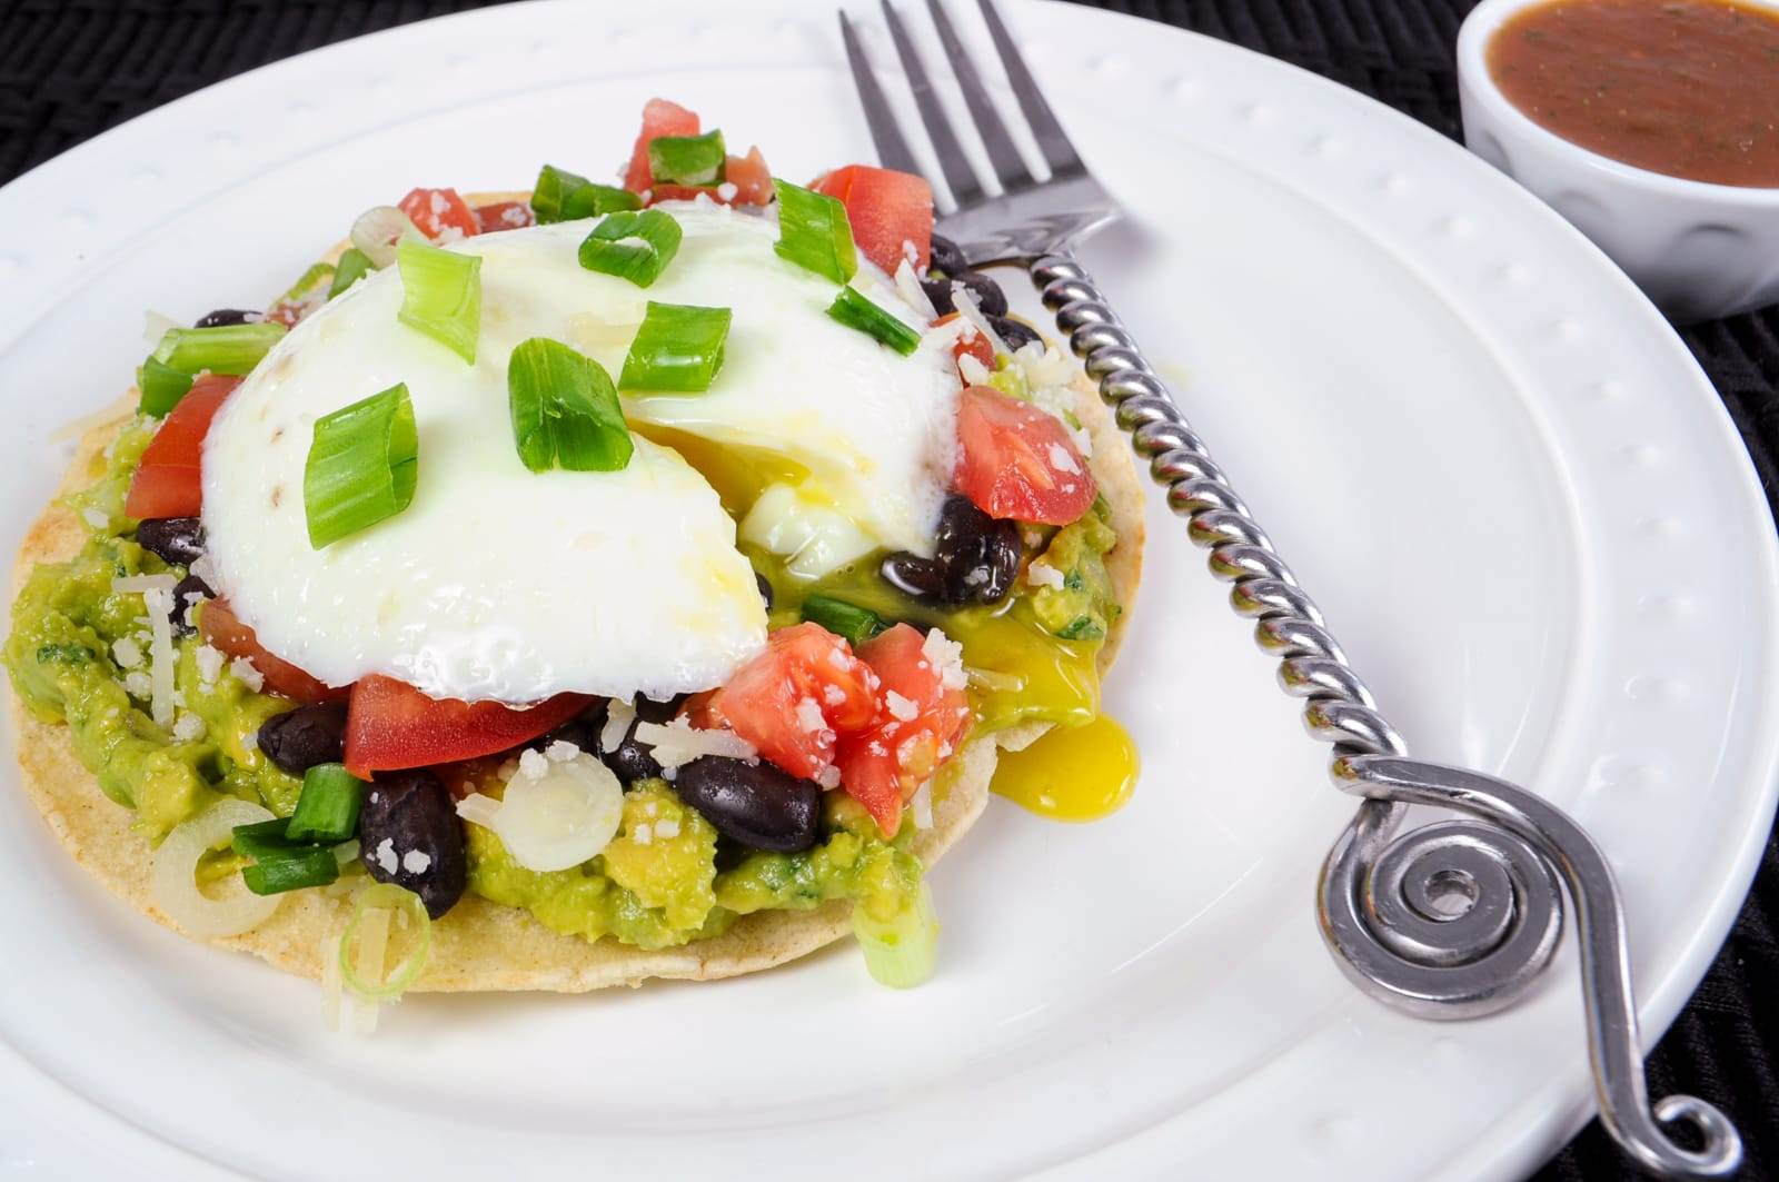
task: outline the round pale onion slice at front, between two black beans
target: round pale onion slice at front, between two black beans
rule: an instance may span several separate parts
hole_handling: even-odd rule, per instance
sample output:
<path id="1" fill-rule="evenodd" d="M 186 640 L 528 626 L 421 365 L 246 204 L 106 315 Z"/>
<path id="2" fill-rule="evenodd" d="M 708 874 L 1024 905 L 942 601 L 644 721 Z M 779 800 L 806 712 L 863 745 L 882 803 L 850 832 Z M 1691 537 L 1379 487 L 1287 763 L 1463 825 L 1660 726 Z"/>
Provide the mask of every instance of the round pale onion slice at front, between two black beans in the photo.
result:
<path id="1" fill-rule="evenodd" d="M 566 870 L 605 849 L 623 814 L 624 789 L 594 757 L 527 751 L 489 828 L 527 870 Z"/>

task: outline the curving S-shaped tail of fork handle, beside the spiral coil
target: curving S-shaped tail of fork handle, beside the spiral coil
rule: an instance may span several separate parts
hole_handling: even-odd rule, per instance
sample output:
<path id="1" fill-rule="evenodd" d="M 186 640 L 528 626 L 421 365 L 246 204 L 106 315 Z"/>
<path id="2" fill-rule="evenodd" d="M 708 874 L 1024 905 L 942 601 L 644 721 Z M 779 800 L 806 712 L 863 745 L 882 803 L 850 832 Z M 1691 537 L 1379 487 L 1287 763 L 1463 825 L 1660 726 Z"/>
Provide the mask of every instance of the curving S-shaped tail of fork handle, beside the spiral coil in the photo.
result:
<path id="1" fill-rule="evenodd" d="M 1544 853 L 1574 901 L 1582 943 L 1587 1050 L 1599 1118 L 1637 1164 L 1662 1177 L 1724 1178 L 1742 1164 L 1742 1137 L 1715 1105 L 1674 1095 L 1654 1107 L 1644 1089 L 1624 906 L 1606 856 L 1560 808 L 1503 780 L 1393 755 L 1340 757 L 1334 783 L 1364 799 L 1436 805 L 1496 824 Z M 1656 1121 L 1692 1123 L 1699 1150 L 1676 1145 Z"/>

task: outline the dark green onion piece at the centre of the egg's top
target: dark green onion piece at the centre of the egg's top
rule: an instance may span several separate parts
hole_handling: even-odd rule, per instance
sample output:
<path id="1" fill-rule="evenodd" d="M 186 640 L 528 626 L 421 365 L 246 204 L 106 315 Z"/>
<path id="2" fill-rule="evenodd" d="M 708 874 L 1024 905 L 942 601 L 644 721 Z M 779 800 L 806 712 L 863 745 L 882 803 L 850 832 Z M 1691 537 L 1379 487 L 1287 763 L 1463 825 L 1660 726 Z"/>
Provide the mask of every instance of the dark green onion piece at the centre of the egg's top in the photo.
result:
<path id="1" fill-rule="evenodd" d="M 532 336 L 507 363 L 512 441 L 532 472 L 619 472 L 635 445 L 612 376 L 548 336 Z"/>

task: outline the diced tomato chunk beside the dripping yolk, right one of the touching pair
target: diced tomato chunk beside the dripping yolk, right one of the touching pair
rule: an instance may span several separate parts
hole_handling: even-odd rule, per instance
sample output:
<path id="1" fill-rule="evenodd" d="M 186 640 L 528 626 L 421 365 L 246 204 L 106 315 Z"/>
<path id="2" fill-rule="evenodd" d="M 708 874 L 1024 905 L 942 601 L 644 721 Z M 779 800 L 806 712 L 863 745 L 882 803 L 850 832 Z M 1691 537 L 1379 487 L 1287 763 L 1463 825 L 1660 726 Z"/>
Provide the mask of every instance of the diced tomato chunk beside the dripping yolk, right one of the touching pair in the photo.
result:
<path id="1" fill-rule="evenodd" d="M 925 634 L 906 623 L 859 646 L 859 659 L 882 684 L 882 703 L 868 728 L 840 737 L 840 787 L 870 810 L 886 837 L 902 822 L 904 801 L 939 771 L 970 730 L 964 687 L 946 685 L 946 673 L 934 666 L 925 646 Z"/>

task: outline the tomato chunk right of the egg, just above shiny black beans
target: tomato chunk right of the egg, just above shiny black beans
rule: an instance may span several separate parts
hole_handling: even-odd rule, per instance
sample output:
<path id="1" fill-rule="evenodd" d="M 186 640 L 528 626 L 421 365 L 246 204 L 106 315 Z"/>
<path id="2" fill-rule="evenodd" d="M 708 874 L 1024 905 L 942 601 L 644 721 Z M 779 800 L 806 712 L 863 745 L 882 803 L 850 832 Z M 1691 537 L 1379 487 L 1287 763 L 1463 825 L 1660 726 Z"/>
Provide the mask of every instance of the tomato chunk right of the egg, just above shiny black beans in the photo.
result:
<path id="1" fill-rule="evenodd" d="M 993 518 L 1067 525 L 1094 504 L 1094 475 L 1062 422 L 993 386 L 957 404 L 957 490 Z"/>

